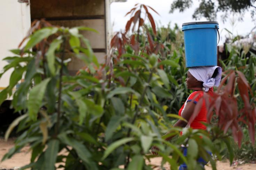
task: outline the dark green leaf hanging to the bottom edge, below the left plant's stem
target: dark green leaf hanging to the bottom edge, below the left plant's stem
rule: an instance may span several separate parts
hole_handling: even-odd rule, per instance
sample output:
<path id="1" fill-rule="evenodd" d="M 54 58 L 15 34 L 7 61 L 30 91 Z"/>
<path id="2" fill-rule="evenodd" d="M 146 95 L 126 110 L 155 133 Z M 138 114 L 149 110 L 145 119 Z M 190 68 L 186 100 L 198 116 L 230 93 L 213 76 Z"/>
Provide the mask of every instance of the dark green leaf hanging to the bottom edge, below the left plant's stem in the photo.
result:
<path id="1" fill-rule="evenodd" d="M 55 163 L 57 159 L 57 154 L 59 152 L 60 142 L 57 139 L 52 139 L 45 151 L 45 168 L 47 170 L 55 170 Z"/>

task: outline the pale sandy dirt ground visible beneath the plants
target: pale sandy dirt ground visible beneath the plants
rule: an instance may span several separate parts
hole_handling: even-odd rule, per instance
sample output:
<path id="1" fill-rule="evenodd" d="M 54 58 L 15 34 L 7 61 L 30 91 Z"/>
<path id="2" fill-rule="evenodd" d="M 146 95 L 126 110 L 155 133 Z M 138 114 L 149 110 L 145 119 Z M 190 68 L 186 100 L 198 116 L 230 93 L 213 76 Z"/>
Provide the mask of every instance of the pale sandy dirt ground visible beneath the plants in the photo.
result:
<path id="1" fill-rule="evenodd" d="M 14 146 L 14 139 L 11 138 L 8 142 L 5 142 L 2 138 L 0 138 L 0 160 L 3 155 L 8 152 L 8 150 Z M 31 158 L 31 151 L 29 150 L 29 146 L 24 147 L 20 153 L 15 154 L 11 159 L 0 162 L 0 170 L 1 169 L 17 169 L 18 167 L 22 167 L 23 165 L 29 164 Z M 151 164 L 160 165 L 162 159 L 161 158 L 153 158 L 151 159 Z M 164 167 L 166 169 L 170 169 L 169 164 L 165 164 Z M 205 166 L 206 170 L 211 170 L 210 165 Z M 155 169 L 160 170 L 160 169 Z M 230 167 L 229 162 L 220 162 L 217 161 L 217 170 L 256 170 L 256 164 L 242 164 L 238 166 Z"/>

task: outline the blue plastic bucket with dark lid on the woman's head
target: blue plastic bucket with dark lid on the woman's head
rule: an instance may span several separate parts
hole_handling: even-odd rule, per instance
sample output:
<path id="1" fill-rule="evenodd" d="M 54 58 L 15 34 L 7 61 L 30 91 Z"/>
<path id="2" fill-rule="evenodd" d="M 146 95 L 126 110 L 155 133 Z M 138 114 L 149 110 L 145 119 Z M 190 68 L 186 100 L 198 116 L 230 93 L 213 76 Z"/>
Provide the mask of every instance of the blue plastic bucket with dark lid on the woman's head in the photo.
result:
<path id="1" fill-rule="evenodd" d="M 217 66 L 218 22 L 182 24 L 186 67 Z"/>

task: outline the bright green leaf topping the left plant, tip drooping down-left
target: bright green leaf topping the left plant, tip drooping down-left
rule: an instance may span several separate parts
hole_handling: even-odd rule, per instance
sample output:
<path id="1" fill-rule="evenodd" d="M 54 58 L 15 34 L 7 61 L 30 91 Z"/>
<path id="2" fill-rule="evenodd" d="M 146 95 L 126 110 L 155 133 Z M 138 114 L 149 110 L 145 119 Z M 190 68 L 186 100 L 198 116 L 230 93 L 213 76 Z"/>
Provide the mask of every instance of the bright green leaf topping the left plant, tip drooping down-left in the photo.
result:
<path id="1" fill-rule="evenodd" d="M 34 45 L 38 44 L 43 39 L 47 38 L 48 36 L 55 34 L 58 31 L 57 27 L 47 27 L 39 29 L 38 31 L 34 32 L 26 44 L 24 50 L 28 50 L 32 48 Z"/>

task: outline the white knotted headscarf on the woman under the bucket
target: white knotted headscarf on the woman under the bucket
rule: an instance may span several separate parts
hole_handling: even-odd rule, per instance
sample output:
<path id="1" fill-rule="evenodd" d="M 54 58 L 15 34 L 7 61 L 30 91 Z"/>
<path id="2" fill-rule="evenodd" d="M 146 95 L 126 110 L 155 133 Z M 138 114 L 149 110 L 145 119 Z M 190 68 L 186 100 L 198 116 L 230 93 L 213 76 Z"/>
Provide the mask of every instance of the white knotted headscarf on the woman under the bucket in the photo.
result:
<path id="1" fill-rule="evenodd" d="M 215 69 L 218 69 L 218 74 L 215 78 L 211 78 L 214 74 Z M 201 66 L 189 68 L 189 73 L 192 74 L 198 81 L 203 82 L 203 90 L 209 91 L 209 88 L 213 86 L 219 86 L 222 68 L 218 66 Z"/>

